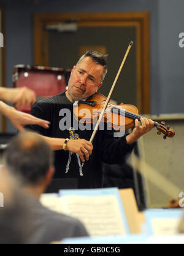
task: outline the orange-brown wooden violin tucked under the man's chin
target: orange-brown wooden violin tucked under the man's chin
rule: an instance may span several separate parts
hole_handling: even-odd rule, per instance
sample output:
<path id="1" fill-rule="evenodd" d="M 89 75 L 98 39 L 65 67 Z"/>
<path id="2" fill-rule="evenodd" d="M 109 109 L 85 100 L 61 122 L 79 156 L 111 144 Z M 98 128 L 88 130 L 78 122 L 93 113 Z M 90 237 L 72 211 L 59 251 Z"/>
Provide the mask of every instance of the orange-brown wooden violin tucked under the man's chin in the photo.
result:
<path id="1" fill-rule="evenodd" d="M 107 98 L 101 93 L 95 93 L 86 101 L 78 101 L 78 105 L 74 106 L 74 116 L 79 122 L 83 123 L 96 123 L 101 115 Z M 142 116 L 138 114 L 136 106 L 131 104 L 112 104 L 108 103 L 105 109 L 101 122 L 107 123 L 109 127 L 115 130 L 128 130 L 134 126 L 134 120 L 137 118 L 140 121 Z M 158 134 L 163 133 L 163 138 L 172 138 L 175 135 L 173 129 L 166 126 L 164 122 L 162 124 L 154 122 L 158 130 Z"/>

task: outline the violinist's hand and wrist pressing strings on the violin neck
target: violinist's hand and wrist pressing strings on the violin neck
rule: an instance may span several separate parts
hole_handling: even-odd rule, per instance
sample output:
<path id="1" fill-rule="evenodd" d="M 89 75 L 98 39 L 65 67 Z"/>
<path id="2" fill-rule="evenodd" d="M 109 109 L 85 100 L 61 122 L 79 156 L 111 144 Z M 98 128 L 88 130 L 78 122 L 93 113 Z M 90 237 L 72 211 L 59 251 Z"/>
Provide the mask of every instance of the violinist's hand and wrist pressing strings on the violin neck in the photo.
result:
<path id="1" fill-rule="evenodd" d="M 133 129 L 132 133 L 126 136 L 126 142 L 128 144 L 132 144 L 137 141 L 142 135 L 145 133 L 148 133 L 153 126 L 154 122 L 151 119 L 147 118 L 140 118 L 141 125 L 139 125 L 139 121 L 136 119 L 135 120 L 135 128 Z"/>

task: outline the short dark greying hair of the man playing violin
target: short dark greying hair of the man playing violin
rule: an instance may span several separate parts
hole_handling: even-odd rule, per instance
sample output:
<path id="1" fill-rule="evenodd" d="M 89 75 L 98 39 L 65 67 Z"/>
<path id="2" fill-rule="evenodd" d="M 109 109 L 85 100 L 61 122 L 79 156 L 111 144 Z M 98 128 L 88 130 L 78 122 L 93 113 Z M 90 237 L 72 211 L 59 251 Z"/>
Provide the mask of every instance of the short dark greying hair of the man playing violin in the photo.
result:
<path id="1" fill-rule="evenodd" d="M 102 73 L 102 80 L 104 80 L 105 75 L 107 74 L 107 55 L 103 55 L 95 50 L 88 50 L 84 55 L 82 55 L 77 63 L 80 63 L 84 58 L 91 57 L 95 63 L 103 66 L 104 71 Z"/>

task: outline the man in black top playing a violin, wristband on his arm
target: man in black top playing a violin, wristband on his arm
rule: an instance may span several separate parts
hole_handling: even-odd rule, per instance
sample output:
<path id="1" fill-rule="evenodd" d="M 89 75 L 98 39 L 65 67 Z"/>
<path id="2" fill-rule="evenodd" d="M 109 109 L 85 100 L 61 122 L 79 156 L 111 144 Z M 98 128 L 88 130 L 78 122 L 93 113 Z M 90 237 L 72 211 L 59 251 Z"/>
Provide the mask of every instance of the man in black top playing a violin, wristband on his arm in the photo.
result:
<path id="1" fill-rule="evenodd" d="M 140 118 L 141 124 L 139 125 L 139 121 L 135 120 L 132 133 L 119 139 L 113 138 L 113 130 L 106 128 L 98 130 L 93 144 L 90 142 L 92 128 L 76 130 L 71 127 L 73 104 L 94 95 L 102 86 L 106 73 L 105 56 L 95 51 L 86 52 L 72 68 L 67 91 L 42 99 L 31 109 L 32 115 L 50 121 L 48 130 L 37 125 L 26 126 L 39 132 L 55 150 L 55 178 L 65 179 L 66 182 L 72 180 L 78 188 L 102 187 L 104 175 L 102 162 L 123 163 L 134 148 L 137 139 L 150 131 L 154 125 L 152 120 Z M 62 114 L 63 109 L 69 111 L 65 116 Z M 68 126 L 64 126 L 62 118 L 71 121 Z M 80 160 L 85 162 L 83 168 Z"/>

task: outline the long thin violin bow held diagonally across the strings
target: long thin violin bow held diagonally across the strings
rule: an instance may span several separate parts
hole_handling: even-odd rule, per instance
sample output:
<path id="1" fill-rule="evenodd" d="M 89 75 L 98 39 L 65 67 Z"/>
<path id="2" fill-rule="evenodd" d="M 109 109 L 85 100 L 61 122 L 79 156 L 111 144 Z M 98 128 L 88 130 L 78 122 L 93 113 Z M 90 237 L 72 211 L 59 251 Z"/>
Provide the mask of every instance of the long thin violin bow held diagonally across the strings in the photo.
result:
<path id="1" fill-rule="evenodd" d="M 123 66 L 124 66 L 124 64 L 125 64 L 126 58 L 127 58 L 128 53 L 129 53 L 129 51 L 130 51 L 130 49 L 131 49 L 131 47 L 132 47 L 132 44 L 133 44 L 133 42 L 131 41 L 131 42 L 129 43 L 129 45 L 128 45 L 127 50 L 126 50 L 125 56 L 124 56 L 124 58 L 123 58 L 123 61 L 121 62 L 121 66 L 120 66 L 120 68 L 119 68 L 119 70 L 118 70 L 118 72 L 117 72 L 117 76 L 115 77 L 115 80 L 113 81 L 113 85 L 112 85 L 112 87 L 111 87 L 111 89 L 110 89 L 110 91 L 109 91 L 109 95 L 108 95 L 108 97 L 107 97 L 107 99 L 106 99 L 106 101 L 105 101 L 105 103 L 104 103 L 104 107 L 103 107 L 102 112 L 101 112 L 101 114 L 100 114 L 100 116 L 99 116 L 99 118 L 98 118 L 98 122 L 96 123 L 96 126 L 94 127 L 94 131 L 93 131 L 93 133 L 92 133 L 92 135 L 91 135 L 91 138 L 90 138 L 90 142 L 91 142 L 91 143 L 93 143 L 93 139 L 94 139 L 94 136 L 96 135 L 96 132 L 97 132 L 97 130 L 98 130 L 99 123 L 101 122 L 102 117 L 103 117 L 104 112 L 105 112 L 105 109 L 107 108 L 107 105 L 109 104 L 110 97 L 111 97 L 111 95 L 112 95 L 112 93 L 113 93 L 113 89 L 114 89 L 114 87 L 115 87 L 115 84 L 117 83 L 118 77 L 120 76 L 121 69 L 123 68 Z"/>

